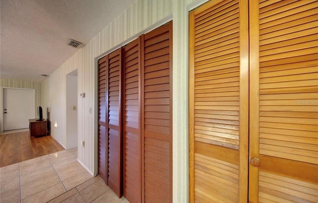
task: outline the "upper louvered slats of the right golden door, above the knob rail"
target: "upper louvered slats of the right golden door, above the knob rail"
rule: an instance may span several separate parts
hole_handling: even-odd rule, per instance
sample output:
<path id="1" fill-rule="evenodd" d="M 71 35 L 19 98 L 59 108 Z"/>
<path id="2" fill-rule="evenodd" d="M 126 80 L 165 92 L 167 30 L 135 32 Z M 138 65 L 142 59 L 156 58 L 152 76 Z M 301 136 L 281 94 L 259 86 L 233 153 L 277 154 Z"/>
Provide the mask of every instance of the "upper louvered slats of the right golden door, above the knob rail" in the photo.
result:
<path id="1" fill-rule="evenodd" d="M 298 34 L 303 30 L 317 28 L 317 17 L 315 15 L 310 15 L 311 12 L 308 8 L 308 5 L 311 5 L 311 9 L 314 7 L 318 7 L 318 3 L 314 1 L 296 1 L 289 3 L 274 3 L 268 6 L 265 6 L 262 9 L 270 9 L 267 12 L 260 13 L 259 18 L 268 18 L 266 22 L 270 22 L 272 20 L 276 20 L 280 13 L 285 12 L 285 8 L 293 9 L 293 10 L 302 10 L 302 13 L 305 16 L 300 19 L 292 19 L 288 20 L 288 23 L 281 25 L 277 28 L 268 26 L 262 26 L 262 29 L 259 31 L 259 39 L 270 39 L 270 38 L 279 38 L 288 33 L 294 33 L 295 39 L 288 40 L 286 38 L 281 38 L 279 41 L 275 42 L 275 44 L 271 47 L 270 45 L 261 45 L 259 52 L 259 60 L 260 62 L 268 62 L 272 61 L 275 64 L 275 60 L 277 59 L 291 59 L 296 58 L 302 55 L 312 55 L 317 54 L 318 50 L 318 33 L 316 34 Z M 275 9 L 271 10 L 272 7 Z M 261 10 L 260 10 L 261 12 Z M 307 14 L 308 13 L 308 14 Z M 271 20 L 269 20 L 271 19 Z M 288 18 L 287 18 L 288 19 Z M 316 20 L 315 20 L 316 19 Z M 260 20 L 260 26 L 263 23 Z M 299 28 L 299 29 L 298 29 Z M 270 30 L 270 34 L 263 32 L 263 30 Z M 291 31 L 289 31 L 291 30 Z M 316 31 L 317 32 L 317 31 Z M 287 41 L 286 44 L 285 42 Z M 266 49 L 266 51 L 265 51 Z M 264 51 L 263 51 L 264 50 Z M 310 51 L 310 50 L 313 50 Z M 309 62 L 309 63 L 307 63 Z M 281 133 L 284 130 L 297 130 L 297 131 L 309 131 L 309 132 L 317 132 L 318 131 L 318 114 L 313 114 L 313 120 L 309 119 L 300 119 L 298 116 L 285 118 L 281 115 L 286 115 L 286 113 L 290 113 L 290 111 L 297 112 L 302 114 L 304 112 L 317 112 L 317 91 L 313 89 L 313 91 L 306 93 L 299 91 L 289 91 L 288 93 L 279 92 L 279 88 L 282 90 L 286 87 L 300 87 L 306 88 L 309 86 L 318 87 L 317 67 L 313 66 L 312 63 L 316 63 L 317 58 L 314 61 L 311 61 L 311 58 L 299 58 L 297 60 L 297 64 L 302 64 L 301 68 L 294 67 L 294 63 L 285 62 L 284 65 L 288 66 L 288 69 L 274 69 L 270 68 L 270 70 L 266 70 L 266 64 L 260 65 L 260 114 L 264 114 L 265 112 L 270 113 L 266 116 L 260 117 L 259 126 L 266 130 L 267 128 L 273 129 L 281 129 Z M 307 65 L 308 64 L 308 65 Z M 283 64 L 277 63 L 277 65 L 282 66 Z M 286 66 L 286 68 L 287 68 Z M 272 66 L 271 66 L 272 67 Z M 275 88 L 275 94 L 271 94 L 270 92 L 266 92 L 268 89 Z M 284 90 L 283 90 L 284 91 Z M 309 94 L 316 94 L 316 97 L 312 96 L 312 98 L 308 97 Z M 284 95 L 285 98 L 281 98 L 280 95 Z M 270 97 L 270 99 L 266 99 L 266 97 Z M 290 97 L 290 98 L 288 98 Z M 277 119 L 273 118 L 277 117 Z M 283 135 L 288 135 L 288 133 L 283 133 Z M 275 135 L 273 135 L 275 136 Z M 304 132 L 303 137 L 306 138 L 306 133 Z M 313 137 L 314 138 L 314 137 Z M 318 136 L 316 138 L 316 147 L 318 148 Z M 271 136 L 267 135 L 266 138 L 260 139 L 260 153 L 264 155 L 276 156 L 281 158 L 288 158 L 303 162 L 316 163 L 318 164 L 318 156 L 317 152 L 311 150 L 311 148 L 304 147 L 301 143 L 293 144 L 292 139 L 290 141 L 277 142 L 274 141 Z M 275 143 L 274 143 L 275 142 Z"/>

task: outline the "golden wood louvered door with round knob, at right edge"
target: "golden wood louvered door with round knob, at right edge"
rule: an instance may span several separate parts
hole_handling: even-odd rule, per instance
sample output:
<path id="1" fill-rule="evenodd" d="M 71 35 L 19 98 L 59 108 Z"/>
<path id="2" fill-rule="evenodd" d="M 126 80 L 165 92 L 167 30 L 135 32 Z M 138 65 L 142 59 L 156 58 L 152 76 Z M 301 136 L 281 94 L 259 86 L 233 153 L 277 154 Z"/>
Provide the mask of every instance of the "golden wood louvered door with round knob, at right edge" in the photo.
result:
<path id="1" fill-rule="evenodd" d="M 250 202 L 318 203 L 318 1 L 249 3 Z"/>

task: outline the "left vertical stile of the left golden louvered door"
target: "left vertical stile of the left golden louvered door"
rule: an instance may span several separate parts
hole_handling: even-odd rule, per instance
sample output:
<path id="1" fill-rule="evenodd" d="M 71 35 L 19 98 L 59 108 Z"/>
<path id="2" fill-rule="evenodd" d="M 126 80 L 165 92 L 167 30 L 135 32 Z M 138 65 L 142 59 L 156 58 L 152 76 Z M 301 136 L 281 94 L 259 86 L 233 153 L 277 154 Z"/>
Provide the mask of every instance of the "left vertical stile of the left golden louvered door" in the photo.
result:
<path id="1" fill-rule="evenodd" d="M 194 203 L 194 11 L 189 12 L 189 203 Z"/>

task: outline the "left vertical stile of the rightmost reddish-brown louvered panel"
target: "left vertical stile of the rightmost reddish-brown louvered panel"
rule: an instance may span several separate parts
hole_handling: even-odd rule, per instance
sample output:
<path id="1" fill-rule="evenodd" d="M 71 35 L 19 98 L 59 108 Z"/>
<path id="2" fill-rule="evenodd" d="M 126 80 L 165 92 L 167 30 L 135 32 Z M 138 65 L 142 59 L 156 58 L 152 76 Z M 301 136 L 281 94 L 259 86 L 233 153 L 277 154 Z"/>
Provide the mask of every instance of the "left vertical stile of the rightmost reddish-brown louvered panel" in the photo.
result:
<path id="1" fill-rule="evenodd" d="M 141 202 L 145 202 L 145 35 L 141 35 Z"/>

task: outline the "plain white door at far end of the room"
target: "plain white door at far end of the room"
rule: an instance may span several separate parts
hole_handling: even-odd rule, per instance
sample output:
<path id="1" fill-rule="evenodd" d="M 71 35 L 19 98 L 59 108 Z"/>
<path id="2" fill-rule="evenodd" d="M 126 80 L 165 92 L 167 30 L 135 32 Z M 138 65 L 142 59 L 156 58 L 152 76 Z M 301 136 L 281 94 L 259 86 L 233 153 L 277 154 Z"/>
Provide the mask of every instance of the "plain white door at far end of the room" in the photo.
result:
<path id="1" fill-rule="evenodd" d="M 4 131 L 29 128 L 29 119 L 35 118 L 33 89 L 3 89 Z"/>

